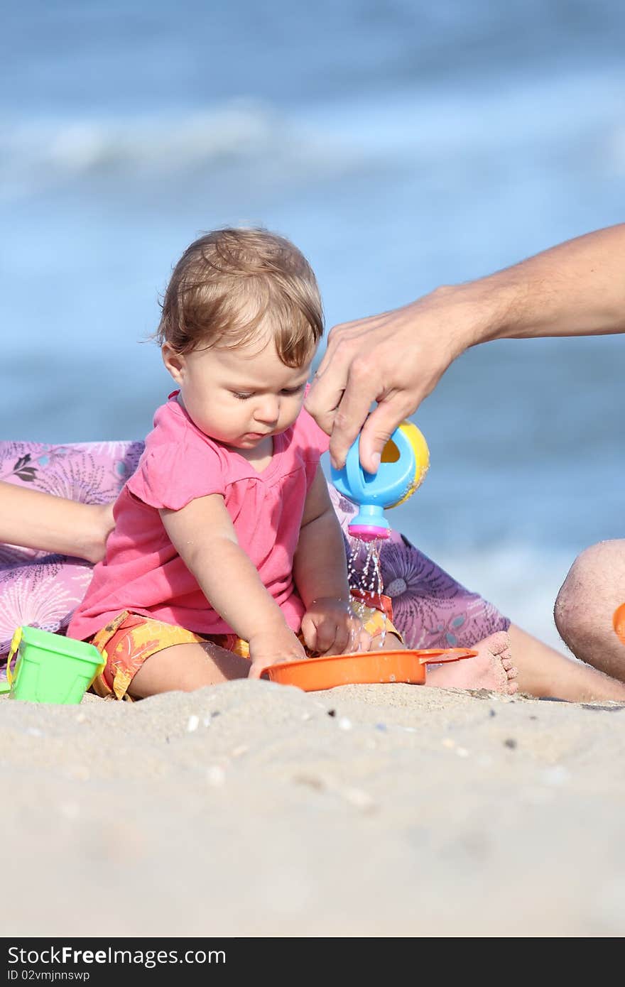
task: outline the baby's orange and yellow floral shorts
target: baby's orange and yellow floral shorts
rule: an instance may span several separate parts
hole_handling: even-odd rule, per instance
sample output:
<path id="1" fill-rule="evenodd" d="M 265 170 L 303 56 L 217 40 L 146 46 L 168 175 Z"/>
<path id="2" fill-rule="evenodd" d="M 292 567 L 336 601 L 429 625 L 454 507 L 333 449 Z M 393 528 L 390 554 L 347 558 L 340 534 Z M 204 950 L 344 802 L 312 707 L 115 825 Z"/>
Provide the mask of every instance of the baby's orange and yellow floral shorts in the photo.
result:
<path id="1" fill-rule="evenodd" d="M 353 590 L 352 609 L 371 638 L 386 633 L 395 634 L 402 640 L 392 622 L 390 597 Z M 103 699 L 131 702 L 128 687 L 147 658 L 172 645 L 202 644 L 206 641 L 240 657 L 250 656 L 247 641 L 237 638 L 235 634 L 195 634 L 184 627 L 123 610 L 91 639 L 90 643 L 106 658 L 104 670 L 94 680 L 91 689 Z"/>

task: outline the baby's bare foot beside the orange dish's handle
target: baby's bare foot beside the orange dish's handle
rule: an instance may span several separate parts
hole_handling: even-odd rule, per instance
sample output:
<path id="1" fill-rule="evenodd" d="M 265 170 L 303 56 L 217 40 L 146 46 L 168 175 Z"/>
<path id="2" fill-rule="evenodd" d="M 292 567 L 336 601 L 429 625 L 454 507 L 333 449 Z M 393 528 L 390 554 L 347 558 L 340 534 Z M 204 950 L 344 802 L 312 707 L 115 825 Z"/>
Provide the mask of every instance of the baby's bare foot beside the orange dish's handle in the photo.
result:
<path id="1" fill-rule="evenodd" d="M 473 650 L 478 652 L 473 658 L 450 661 L 431 671 L 428 669 L 427 684 L 445 689 L 490 689 L 508 693 L 508 696 L 516 692 L 518 671 L 512 664 L 506 631 L 485 638 Z"/>

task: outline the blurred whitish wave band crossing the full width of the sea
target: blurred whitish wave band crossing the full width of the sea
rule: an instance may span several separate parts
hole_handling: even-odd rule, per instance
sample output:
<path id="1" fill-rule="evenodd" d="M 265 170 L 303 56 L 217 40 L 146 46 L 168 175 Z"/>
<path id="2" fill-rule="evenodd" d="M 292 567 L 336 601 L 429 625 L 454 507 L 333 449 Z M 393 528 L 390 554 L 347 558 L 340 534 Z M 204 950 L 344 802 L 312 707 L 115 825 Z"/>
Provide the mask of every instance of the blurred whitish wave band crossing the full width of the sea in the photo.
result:
<path id="1" fill-rule="evenodd" d="M 533 152 L 574 142 L 599 170 L 625 172 L 625 75 L 510 77 L 496 87 L 431 86 L 278 111 L 256 100 L 126 117 L 6 118 L 3 194 L 93 175 L 142 178 L 253 163 L 255 174 L 341 176 L 370 165 L 460 167 L 472 156 Z M 597 146 L 597 141 L 600 146 Z"/>

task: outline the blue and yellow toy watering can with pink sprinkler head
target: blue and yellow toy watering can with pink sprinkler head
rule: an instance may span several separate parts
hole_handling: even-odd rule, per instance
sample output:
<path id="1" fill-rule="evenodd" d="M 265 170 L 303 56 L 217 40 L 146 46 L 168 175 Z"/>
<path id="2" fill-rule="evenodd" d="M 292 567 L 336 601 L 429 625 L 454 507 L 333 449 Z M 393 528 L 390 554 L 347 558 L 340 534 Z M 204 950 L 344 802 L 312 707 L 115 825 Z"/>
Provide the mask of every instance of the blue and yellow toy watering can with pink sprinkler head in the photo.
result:
<path id="1" fill-rule="evenodd" d="M 352 537 L 363 542 L 388 538 L 391 526 L 384 510 L 408 500 L 423 484 L 429 467 L 428 443 L 412 421 L 397 426 L 382 450 L 377 473 L 362 469 L 356 438 L 343 469 L 331 469 L 331 480 L 339 493 L 359 507 L 348 526 Z"/>

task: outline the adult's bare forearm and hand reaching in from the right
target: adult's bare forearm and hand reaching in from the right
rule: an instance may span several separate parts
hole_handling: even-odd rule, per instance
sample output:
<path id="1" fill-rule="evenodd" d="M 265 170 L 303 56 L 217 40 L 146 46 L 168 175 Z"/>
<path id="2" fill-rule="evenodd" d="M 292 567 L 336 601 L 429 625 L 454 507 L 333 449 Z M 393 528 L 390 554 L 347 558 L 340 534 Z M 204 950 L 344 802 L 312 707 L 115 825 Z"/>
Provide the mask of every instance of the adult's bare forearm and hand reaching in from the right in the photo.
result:
<path id="1" fill-rule="evenodd" d="M 402 308 L 335 326 L 305 406 L 331 435 L 337 467 L 361 429 L 360 461 L 374 473 L 391 433 L 469 346 L 624 331 L 621 223 L 487 277 L 436 288 Z"/>

